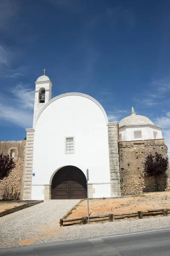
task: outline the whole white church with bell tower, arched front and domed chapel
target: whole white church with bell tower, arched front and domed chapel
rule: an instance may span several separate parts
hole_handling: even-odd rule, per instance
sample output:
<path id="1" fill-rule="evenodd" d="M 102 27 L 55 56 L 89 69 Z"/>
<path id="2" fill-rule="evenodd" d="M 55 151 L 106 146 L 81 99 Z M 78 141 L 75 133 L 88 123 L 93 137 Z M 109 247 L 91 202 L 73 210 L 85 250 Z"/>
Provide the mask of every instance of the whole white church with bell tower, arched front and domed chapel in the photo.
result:
<path id="1" fill-rule="evenodd" d="M 26 129 L 23 199 L 120 197 L 118 141 L 161 139 L 145 116 L 108 122 L 91 96 L 65 93 L 51 99 L 48 76 L 35 82 L 33 128 Z"/>

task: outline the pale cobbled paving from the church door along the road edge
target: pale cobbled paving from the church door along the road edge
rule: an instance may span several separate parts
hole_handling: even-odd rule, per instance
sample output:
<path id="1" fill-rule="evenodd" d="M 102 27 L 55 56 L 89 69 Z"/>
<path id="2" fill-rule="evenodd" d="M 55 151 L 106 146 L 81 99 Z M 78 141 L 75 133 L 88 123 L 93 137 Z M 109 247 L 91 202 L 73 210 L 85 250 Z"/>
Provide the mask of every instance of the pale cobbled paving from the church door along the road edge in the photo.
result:
<path id="1" fill-rule="evenodd" d="M 59 226 L 59 218 L 79 200 L 51 200 L 0 218 L 0 248 L 98 236 L 118 235 L 170 227 L 168 217 Z"/>

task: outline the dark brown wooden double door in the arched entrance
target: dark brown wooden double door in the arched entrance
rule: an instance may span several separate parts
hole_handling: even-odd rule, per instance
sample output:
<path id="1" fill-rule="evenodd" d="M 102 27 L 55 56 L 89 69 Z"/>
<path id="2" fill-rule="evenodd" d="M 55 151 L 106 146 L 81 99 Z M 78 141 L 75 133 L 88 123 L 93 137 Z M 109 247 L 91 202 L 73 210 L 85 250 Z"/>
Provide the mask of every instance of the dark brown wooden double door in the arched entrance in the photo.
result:
<path id="1" fill-rule="evenodd" d="M 51 199 L 87 198 L 84 173 L 75 166 L 62 167 L 52 179 Z"/>

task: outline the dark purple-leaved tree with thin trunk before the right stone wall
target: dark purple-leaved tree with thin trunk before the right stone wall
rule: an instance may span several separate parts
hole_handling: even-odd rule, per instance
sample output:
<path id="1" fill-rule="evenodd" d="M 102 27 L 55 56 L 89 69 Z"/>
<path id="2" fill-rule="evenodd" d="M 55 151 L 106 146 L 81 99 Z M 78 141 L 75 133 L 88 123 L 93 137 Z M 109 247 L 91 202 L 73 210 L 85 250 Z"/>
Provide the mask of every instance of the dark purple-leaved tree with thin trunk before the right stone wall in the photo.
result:
<path id="1" fill-rule="evenodd" d="M 156 179 L 156 191 L 158 191 L 158 176 L 164 174 L 168 166 L 168 158 L 163 157 L 162 154 L 155 155 L 147 154 L 147 157 L 144 160 L 144 172 L 149 177 L 155 177 Z"/>

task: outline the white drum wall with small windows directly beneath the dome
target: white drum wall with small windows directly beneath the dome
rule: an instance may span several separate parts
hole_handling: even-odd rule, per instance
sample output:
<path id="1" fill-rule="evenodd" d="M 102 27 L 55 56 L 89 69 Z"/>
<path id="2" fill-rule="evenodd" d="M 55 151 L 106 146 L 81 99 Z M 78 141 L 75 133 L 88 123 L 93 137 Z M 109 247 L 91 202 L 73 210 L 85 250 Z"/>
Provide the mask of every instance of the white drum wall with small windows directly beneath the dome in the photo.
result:
<path id="1" fill-rule="evenodd" d="M 130 141 L 134 139 L 134 131 L 142 132 L 142 140 L 153 140 L 153 131 L 157 132 L 157 139 L 162 139 L 161 128 L 152 125 L 131 126 L 126 128 L 119 128 L 119 134 L 122 134 L 122 141 Z"/>

